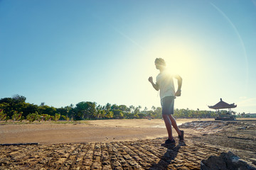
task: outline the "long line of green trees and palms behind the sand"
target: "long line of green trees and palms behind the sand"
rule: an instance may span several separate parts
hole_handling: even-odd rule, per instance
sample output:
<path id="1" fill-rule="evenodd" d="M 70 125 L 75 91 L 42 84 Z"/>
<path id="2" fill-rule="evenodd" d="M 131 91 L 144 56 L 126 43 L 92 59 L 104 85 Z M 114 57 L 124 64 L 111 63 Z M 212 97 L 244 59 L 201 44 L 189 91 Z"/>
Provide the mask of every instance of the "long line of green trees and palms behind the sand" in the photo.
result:
<path id="1" fill-rule="evenodd" d="M 196 111 L 178 109 L 174 111 L 176 118 L 214 118 L 214 111 Z M 125 106 L 107 103 L 105 106 L 95 102 L 81 101 L 75 106 L 55 108 L 45 103 L 35 105 L 26 103 L 26 97 L 14 95 L 12 98 L 0 99 L 0 120 L 88 120 L 88 119 L 132 119 L 132 118 L 161 118 L 161 108 L 152 106 L 151 109 L 141 106 Z"/>

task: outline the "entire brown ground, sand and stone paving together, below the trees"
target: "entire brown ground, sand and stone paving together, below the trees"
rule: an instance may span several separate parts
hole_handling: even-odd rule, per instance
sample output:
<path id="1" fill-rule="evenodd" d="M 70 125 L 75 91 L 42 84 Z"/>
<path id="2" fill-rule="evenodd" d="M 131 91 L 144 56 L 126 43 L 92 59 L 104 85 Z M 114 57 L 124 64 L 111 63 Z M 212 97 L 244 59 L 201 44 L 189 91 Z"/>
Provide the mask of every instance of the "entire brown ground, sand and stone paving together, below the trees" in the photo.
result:
<path id="1" fill-rule="evenodd" d="M 178 142 L 174 133 L 173 146 L 161 145 L 167 136 L 163 120 L 0 125 L 0 143 L 39 143 L 1 145 L 0 170 L 200 169 L 201 160 L 230 151 L 256 167 L 256 119 L 177 123 L 185 140 Z"/>

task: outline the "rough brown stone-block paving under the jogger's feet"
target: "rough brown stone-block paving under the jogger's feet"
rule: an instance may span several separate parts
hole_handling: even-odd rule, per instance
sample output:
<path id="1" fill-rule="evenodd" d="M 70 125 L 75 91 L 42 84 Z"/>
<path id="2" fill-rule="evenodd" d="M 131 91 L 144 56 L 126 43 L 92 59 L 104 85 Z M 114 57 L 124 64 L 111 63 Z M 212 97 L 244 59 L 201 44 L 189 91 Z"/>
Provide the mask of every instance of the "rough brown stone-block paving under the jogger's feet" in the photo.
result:
<path id="1" fill-rule="evenodd" d="M 0 169 L 200 169 L 224 149 L 186 140 L 0 146 Z"/>

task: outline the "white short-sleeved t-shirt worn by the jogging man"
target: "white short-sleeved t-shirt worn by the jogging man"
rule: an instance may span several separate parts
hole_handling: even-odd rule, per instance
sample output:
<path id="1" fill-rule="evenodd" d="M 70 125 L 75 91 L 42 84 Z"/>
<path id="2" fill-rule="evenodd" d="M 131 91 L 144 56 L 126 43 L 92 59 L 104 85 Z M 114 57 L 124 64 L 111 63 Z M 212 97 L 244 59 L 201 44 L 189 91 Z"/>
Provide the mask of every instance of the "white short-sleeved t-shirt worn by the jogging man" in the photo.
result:
<path id="1" fill-rule="evenodd" d="M 166 96 L 175 96 L 173 77 L 174 75 L 169 74 L 167 71 L 161 72 L 157 75 L 156 84 L 159 86 L 161 99 Z"/>

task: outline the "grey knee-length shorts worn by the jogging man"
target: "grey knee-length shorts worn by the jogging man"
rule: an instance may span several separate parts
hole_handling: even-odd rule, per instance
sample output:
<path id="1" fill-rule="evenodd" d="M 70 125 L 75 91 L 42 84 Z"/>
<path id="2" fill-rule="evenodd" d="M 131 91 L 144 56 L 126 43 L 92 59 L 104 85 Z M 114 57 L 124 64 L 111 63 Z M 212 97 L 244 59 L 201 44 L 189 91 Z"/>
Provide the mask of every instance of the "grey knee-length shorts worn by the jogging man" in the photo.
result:
<path id="1" fill-rule="evenodd" d="M 162 114 L 173 115 L 174 114 L 174 96 L 166 96 L 161 99 Z"/>

